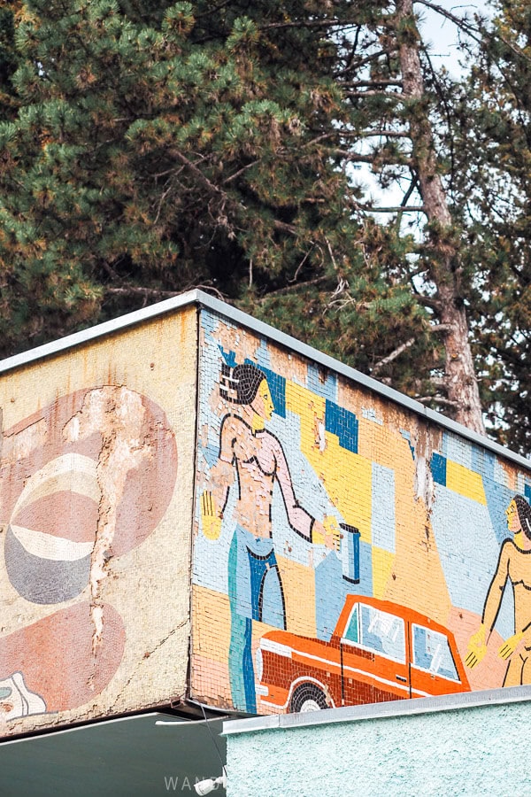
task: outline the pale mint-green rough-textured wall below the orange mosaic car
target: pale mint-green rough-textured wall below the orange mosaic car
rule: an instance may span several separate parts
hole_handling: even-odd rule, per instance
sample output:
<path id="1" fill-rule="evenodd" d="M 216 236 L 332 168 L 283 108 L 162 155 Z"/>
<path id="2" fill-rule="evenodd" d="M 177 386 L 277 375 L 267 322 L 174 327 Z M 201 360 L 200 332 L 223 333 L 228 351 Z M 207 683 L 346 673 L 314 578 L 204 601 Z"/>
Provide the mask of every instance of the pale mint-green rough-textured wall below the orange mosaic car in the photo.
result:
<path id="1" fill-rule="evenodd" d="M 529 697 L 413 716 L 230 733 L 227 797 L 526 795 L 531 775 L 519 740 L 527 738 L 528 725 Z"/>

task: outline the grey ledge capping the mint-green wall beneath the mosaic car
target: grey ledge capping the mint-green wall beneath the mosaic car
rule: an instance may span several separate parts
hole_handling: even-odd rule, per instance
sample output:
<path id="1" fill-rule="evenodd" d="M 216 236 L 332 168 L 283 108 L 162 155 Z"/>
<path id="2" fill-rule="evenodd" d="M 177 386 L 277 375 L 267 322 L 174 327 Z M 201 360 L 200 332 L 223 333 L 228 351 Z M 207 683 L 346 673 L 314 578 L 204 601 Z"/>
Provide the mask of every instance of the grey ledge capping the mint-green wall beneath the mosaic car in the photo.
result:
<path id="1" fill-rule="evenodd" d="M 508 703 L 531 702 L 531 686 L 505 686 L 502 689 L 484 689 L 480 692 L 444 694 L 440 697 L 414 700 L 389 700 L 383 703 L 367 703 L 363 706 L 325 708 L 301 714 L 275 714 L 253 716 L 246 719 L 226 720 L 223 736 L 239 733 L 256 733 L 274 729 L 306 728 L 315 725 L 352 723 L 389 717 L 434 714 L 440 711 L 455 711 L 460 708 L 507 705 Z"/>

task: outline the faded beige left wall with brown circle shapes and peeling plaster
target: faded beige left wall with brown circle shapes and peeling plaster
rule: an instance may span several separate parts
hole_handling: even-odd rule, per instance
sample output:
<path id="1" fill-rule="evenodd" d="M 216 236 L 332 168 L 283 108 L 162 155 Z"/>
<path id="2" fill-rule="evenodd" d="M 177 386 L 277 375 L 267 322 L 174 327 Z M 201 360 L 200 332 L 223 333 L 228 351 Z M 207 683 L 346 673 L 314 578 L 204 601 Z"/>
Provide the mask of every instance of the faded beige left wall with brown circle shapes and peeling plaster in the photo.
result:
<path id="1" fill-rule="evenodd" d="M 196 308 L 0 376 L 0 734 L 186 691 Z"/>

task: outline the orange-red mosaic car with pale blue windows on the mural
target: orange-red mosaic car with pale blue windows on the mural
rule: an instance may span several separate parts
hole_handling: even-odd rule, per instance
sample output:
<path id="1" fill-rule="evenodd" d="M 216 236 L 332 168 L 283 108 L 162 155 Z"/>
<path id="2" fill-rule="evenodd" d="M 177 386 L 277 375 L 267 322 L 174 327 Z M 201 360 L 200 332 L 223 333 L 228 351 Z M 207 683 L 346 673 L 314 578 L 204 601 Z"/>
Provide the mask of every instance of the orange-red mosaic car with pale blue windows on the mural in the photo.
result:
<path id="1" fill-rule="evenodd" d="M 412 609 L 348 595 L 329 642 L 269 631 L 256 654 L 267 713 L 470 692 L 453 634 Z"/>

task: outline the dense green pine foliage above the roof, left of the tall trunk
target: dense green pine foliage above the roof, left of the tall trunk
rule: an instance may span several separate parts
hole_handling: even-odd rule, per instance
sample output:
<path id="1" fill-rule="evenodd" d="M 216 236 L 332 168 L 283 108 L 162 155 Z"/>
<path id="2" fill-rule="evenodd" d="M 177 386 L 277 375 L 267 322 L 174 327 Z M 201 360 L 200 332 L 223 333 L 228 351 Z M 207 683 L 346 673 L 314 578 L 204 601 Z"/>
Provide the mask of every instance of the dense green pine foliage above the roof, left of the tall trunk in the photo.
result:
<path id="1" fill-rule="evenodd" d="M 342 168 L 340 29 L 326 4 L 22 4 L 5 351 L 204 285 L 361 367 L 420 353 L 426 313 L 381 277 L 409 244 Z"/>

